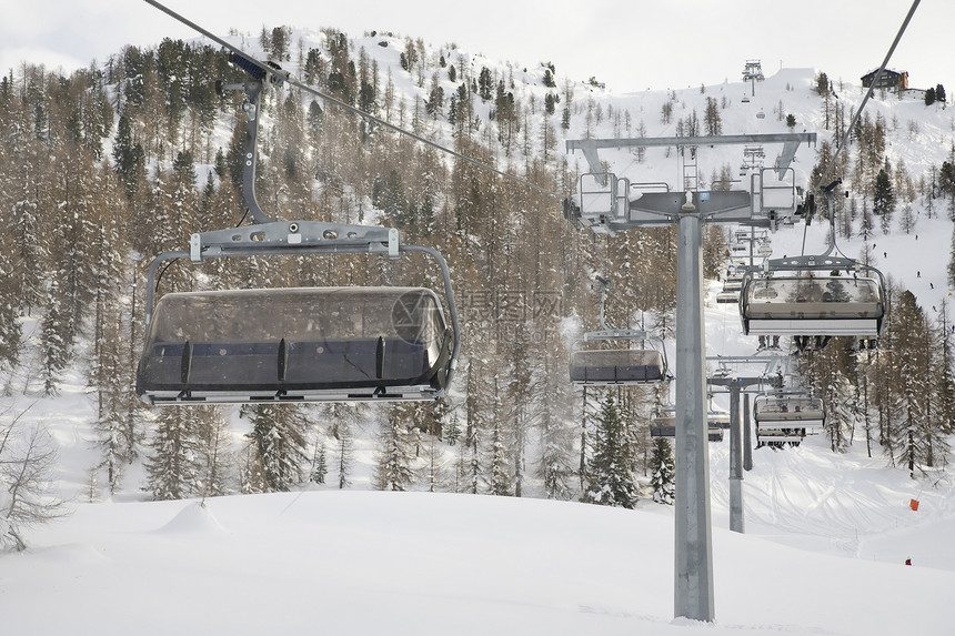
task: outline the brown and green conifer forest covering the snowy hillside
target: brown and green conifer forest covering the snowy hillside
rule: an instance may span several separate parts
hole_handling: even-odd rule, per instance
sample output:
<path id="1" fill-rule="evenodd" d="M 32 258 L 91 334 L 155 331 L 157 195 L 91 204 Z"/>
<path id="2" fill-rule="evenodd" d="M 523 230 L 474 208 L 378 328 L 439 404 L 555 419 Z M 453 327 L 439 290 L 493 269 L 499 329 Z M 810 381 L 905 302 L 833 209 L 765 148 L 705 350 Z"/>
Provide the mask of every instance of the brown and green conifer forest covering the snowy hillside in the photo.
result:
<path id="1" fill-rule="evenodd" d="M 515 90 L 514 69 L 475 69 L 420 40 L 391 40 L 403 43 L 400 65 L 381 68 L 335 30 L 324 30 L 315 48 L 290 34 L 263 30 L 259 44 L 270 59 L 293 63 L 309 85 L 540 188 L 443 155 L 294 87 L 264 95 L 257 191 L 267 213 L 395 226 L 403 242 L 432 245 L 448 260 L 463 325 L 449 400 L 153 410 L 137 398 L 150 260 L 182 249 L 193 232 L 249 222 L 240 191 L 242 95 L 213 88 L 217 79 L 244 77 L 222 52 L 180 40 L 127 47 L 69 77 L 24 63 L 0 80 L 4 395 L 56 396 L 66 374 L 79 371 L 96 404 L 101 461 L 90 479 L 110 493 L 143 486 L 123 481 L 133 462 L 145 466 L 144 487 L 157 499 L 288 491 L 310 481 L 348 487 L 355 440 L 373 435 L 379 488 L 622 506 L 649 496 L 640 484 L 651 474 L 659 482 L 668 465 L 666 443 L 649 435 L 666 392 L 579 392 L 566 361 L 575 334 L 597 326 L 595 275 L 625 281 L 609 297 L 607 324 L 672 337 L 674 234 L 576 233 L 546 194 L 575 190 L 579 174 L 557 150 L 573 122 L 586 130 L 602 118 L 627 129 L 642 122 L 604 109 L 584 84 L 557 87 L 552 68 L 539 100 Z M 449 81 L 454 91 L 444 90 Z M 400 89 L 409 82 L 426 99 Z M 820 92 L 821 109 L 837 113 Z M 704 124 L 720 134 L 715 100 L 712 109 Z M 862 210 L 853 199 L 821 211 L 836 215 L 838 231 L 876 232 L 878 220 L 896 209 L 911 213 L 924 196 L 924 175 L 888 164 L 885 125 L 863 118 L 855 152 L 840 155 L 841 169 L 866 185 Z M 680 129 L 694 135 L 700 127 L 694 111 Z M 822 144 L 816 171 L 832 152 Z M 949 172 L 946 163 L 932 175 L 928 200 L 937 198 L 941 210 L 946 198 L 955 201 Z M 705 275 L 718 277 L 726 255 L 724 230 L 710 228 Z M 158 293 L 299 285 L 440 289 L 441 279 L 416 258 L 223 260 L 173 264 Z M 865 443 L 915 472 L 947 461 L 955 329 L 947 313 L 931 319 L 905 290 L 892 287 L 891 297 L 877 350 L 836 339 L 801 367 L 828 405 L 833 451 Z M 0 417 L 9 431 L 17 413 Z M 247 433 L 237 440 L 237 430 Z"/>

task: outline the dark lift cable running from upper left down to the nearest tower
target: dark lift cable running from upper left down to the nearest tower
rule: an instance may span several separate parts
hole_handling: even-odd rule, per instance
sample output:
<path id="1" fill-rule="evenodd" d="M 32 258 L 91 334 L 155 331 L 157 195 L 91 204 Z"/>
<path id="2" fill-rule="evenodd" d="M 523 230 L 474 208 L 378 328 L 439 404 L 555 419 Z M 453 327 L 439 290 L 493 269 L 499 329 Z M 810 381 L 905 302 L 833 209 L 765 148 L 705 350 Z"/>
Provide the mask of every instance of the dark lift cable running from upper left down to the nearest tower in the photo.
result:
<path id="1" fill-rule="evenodd" d="M 444 152 L 446 154 L 450 154 L 450 155 L 454 157 L 455 159 L 460 159 L 461 161 L 466 161 L 468 163 L 475 165 L 478 168 L 481 168 L 482 170 L 487 170 L 490 172 L 493 172 L 494 174 L 497 174 L 499 176 L 503 176 L 504 179 L 513 181 L 514 183 L 519 183 L 521 185 L 526 185 L 527 188 L 531 188 L 532 190 L 536 190 L 541 194 L 545 194 L 545 195 L 551 196 L 553 199 L 556 199 L 559 201 L 563 200 L 565 196 L 564 194 L 561 194 L 557 192 L 552 192 L 545 188 L 541 188 L 540 185 L 537 185 L 535 183 L 531 183 L 526 179 L 521 179 L 520 176 L 515 176 L 513 174 L 510 174 L 507 172 L 499 170 L 499 169 L 494 168 L 493 165 L 490 165 L 490 164 L 484 163 L 482 161 L 478 161 L 476 159 L 472 159 L 472 158 L 470 158 L 465 154 L 462 154 L 455 150 L 452 150 L 448 147 L 441 145 L 440 143 L 433 142 L 430 139 L 425 139 L 425 138 L 421 137 L 420 134 L 415 134 L 411 131 L 404 130 L 403 128 L 396 127 L 393 123 L 389 123 L 388 121 L 385 121 L 381 118 L 378 118 L 378 117 L 375 117 L 369 112 L 365 112 L 359 108 L 355 108 L 355 107 L 353 107 L 346 102 L 343 102 L 342 100 L 339 100 L 339 99 L 333 98 L 326 93 L 323 93 L 318 89 L 314 89 L 314 88 L 312 88 L 305 83 L 300 82 L 294 75 L 292 75 L 288 71 L 282 70 L 280 67 L 278 67 L 278 64 L 272 64 L 272 63 L 261 62 L 259 60 L 255 60 L 254 58 L 252 58 L 248 53 L 243 52 L 241 49 L 230 44 L 229 42 L 227 42 L 222 38 L 219 38 L 218 36 L 211 33 L 207 29 L 203 29 L 202 27 L 200 27 L 195 22 L 189 20 L 184 16 L 181 16 L 180 13 L 177 13 L 172 9 L 163 6 L 161 2 L 157 2 L 155 0 L 143 0 L 143 1 L 147 2 L 148 4 L 152 4 L 153 7 L 155 7 L 157 9 L 162 11 L 163 13 L 173 18 L 174 20 L 182 22 L 183 24 L 185 24 L 190 29 L 198 31 L 199 33 L 201 33 L 201 34 L 205 36 L 207 38 L 209 38 L 210 40 L 212 40 L 213 42 L 228 49 L 237 58 L 233 61 L 239 67 L 241 67 L 244 71 L 247 71 L 250 75 L 254 77 L 258 80 L 261 80 L 261 79 L 264 79 L 265 77 L 269 77 L 270 83 L 273 83 L 273 84 L 280 84 L 283 81 L 289 82 L 290 84 L 292 84 L 292 85 L 294 85 L 294 87 L 296 87 L 296 88 L 299 88 L 299 89 L 301 89 L 308 93 L 311 93 L 318 98 L 321 98 L 328 102 L 331 102 L 331 103 L 335 104 L 336 107 L 340 107 L 340 108 L 342 108 L 349 112 L 352 112 L 359 117 L 362 117 L 369 121 L 373 121 L 374 123 L 380 124 L 380 125 L 382 125 L 382 127 L 384 127 L 391 131 L 394 131 L 399 134 L 408 135 L 408 137 L 414 139 L 415 141 L 419 141 L 425 145 L 430 145 L 431 148 L 439 150 L 441 152 Z"/>

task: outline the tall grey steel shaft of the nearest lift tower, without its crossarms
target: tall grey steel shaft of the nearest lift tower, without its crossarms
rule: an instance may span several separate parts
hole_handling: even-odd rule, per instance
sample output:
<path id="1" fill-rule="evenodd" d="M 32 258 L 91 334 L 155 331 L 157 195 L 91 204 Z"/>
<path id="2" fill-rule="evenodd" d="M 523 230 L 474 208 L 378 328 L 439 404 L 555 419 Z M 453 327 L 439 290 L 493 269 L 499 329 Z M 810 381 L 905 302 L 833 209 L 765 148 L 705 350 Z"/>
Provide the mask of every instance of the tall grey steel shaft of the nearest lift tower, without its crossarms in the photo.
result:
<path id="1" fill-rule="evenodd" d="M 688 194 L 687 194 L 688 199 Z M 703 220 L 676 220 L 676 616 L 715 619 L 703 334 Z"/>

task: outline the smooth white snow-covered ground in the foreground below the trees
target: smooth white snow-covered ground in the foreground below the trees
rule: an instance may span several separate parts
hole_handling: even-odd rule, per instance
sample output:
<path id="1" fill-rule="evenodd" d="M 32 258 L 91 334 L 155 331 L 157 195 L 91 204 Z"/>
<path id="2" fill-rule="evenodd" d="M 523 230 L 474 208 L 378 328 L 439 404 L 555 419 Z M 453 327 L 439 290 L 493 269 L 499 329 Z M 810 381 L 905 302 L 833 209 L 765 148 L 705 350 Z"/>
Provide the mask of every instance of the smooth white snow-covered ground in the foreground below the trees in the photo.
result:
<path id="1" fill-rule="evenodd" d="M 952 484 L 814 442 L 755 452 L 745 535 L 713 445 L 714 625 L 673 619 L 667 506 L 322 491 L 76 505 L 0 561 L 3 633 L 955 632 Z"/>

